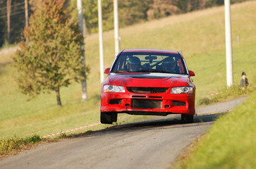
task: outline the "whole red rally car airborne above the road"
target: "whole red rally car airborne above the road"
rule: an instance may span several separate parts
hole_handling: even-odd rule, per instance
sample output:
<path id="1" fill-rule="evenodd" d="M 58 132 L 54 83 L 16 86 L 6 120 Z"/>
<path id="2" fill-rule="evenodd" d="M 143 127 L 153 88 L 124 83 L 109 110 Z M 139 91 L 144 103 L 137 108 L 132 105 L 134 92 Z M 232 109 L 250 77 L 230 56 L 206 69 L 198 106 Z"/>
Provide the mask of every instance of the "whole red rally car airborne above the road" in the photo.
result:
<path id="1" fill-rule="evenodd" d="M 193 123 L 195 85 L 180 52 L 125 49 L 114 60 L 102 82 L 101 123 L 112 124 L 118 113 L 131 115 L 181 114 Z"/>

